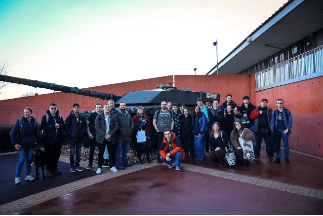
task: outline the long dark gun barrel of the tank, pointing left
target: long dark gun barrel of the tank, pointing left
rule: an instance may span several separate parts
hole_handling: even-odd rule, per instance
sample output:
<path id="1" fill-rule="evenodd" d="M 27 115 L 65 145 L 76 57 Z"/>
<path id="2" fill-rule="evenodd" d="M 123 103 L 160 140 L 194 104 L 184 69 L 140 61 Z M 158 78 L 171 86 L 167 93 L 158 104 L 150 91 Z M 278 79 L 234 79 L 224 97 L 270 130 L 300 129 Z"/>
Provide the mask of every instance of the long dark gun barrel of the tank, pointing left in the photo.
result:
<path id="1" fill-rule="evenodd" d="M 104 93 L 104 92 L 97 92 L 97 91 L 91 91 L 91 90 L 85 90 L 80 89 L 78 87 L 69 87 L 64 85 L 56 85 L 55 83 L 49 83 L 49 82 L 42 82 L 38 80 L 32 80 L 32 79 L 24 79 L 24 78 L 18 78 L 14 76 L 7 76 L 7 75 L 0 75 L 0 81 L 3 82 L 11 82 L 11 83 L 17 83 L 22 85 L 29 85 L 33 86 L 35 88 L 45 88 L 45 89 L 51 89 L 54 91 L 61 91 L 64 93 L 73 93 L 77 95 L 85 95 L 89 97 L 94 98 L 100 98 L 102 100 L 114 100 L 115 102 L 122 98 L 122 96 Z"/>

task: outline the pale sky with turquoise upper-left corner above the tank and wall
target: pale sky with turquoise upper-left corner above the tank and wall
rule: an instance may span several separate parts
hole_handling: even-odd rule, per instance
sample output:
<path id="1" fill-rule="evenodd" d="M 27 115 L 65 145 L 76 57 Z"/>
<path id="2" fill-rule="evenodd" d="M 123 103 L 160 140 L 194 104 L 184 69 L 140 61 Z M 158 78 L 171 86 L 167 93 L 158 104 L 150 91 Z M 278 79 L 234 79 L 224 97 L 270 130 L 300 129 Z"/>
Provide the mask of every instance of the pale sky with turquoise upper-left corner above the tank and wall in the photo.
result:
<path id="1" fill-rule="evenodd" d="M 285 2 L 0 0 L 0 63 L 10 76 L 79 88 L 195 67 L 204 75 L 216 65 L 216 39 L 220 62 Z M 11 84 L 0 100 L 30 91 L 52 92 Z"/>

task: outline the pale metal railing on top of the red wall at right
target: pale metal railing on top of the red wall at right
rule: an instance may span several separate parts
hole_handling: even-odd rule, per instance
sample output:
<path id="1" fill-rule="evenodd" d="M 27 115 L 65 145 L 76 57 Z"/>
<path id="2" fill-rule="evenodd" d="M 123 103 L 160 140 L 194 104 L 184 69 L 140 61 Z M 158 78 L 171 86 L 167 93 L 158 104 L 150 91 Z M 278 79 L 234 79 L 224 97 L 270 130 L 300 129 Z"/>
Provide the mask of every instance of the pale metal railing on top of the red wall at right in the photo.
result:
<path id="1" fill-rule="evenodd" d="M 323 46 L 256 73 L 256 88 L 323 71 Z"/>

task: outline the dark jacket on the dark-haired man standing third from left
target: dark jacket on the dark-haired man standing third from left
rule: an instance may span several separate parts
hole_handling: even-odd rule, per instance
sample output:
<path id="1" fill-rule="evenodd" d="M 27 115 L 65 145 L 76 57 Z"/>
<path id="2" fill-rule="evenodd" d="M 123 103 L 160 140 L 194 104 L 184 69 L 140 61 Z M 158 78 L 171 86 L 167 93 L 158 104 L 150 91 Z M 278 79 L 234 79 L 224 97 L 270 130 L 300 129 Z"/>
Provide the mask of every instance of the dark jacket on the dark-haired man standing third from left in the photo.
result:
<path id="1" fill-rule="evenodd" d="M 73 110 L 67 116 L 65 120 L 65 131 L 67 134 L 67 137 L 70 141 L 78 141 L 81 140 L 87 130 L 87 122 L 86 119 L 83 117 L 83 115 L 80 113 L 79 121 L 77 120 L 77 117 L 74 115 Z"/>

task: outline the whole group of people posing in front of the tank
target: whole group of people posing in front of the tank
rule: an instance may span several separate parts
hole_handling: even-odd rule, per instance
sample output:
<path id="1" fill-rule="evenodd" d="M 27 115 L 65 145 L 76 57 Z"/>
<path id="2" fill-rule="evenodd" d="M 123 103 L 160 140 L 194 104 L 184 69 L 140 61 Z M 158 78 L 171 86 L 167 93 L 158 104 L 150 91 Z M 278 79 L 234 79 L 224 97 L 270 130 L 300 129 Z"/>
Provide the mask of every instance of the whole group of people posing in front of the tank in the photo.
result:
<path id="1" fill-rule="evenodd" d="M 225 154 L 228 143 L 231 143 L 236 155 L 237 163 L 244 166 L 249 161 L 243 159 L 242 146 L 239 138 L 245 141 L 252 140 L 255 159 L 260 159 L 262 139 L 265 140 L 267 157 L 273 161 L 274 151 L 269 144 L 270 133 L 276 130 L 283 139 L 284 161 L 288 160 L 288 136 L 291 133 L 292 117 L 290 110 L 283 107 L 283 100 L 276 102 L 277 110 L 268 108 L 267 99 L 261 100 L 261 106 L 256 108 L 249 102 L 248 96 L 243 96 L 243 103 L 237 106 L 232 96 L 226 96 L 226 101 L 219 107 L 219 100 L 206 100 L 205 105 L 201 98 L 197 99 L 197 106 L 193 114 L 185 105 L 161 102 L 161 110 L 156 111 L 153 126 L 156 130 L 158 160 L 168 164 L 168 168 L 175 166 L 180 170 L 183 159 L 204 160 L 216 162 L 219 167 L 226 166 Z M 103 110 L 102 110 L 103 109 Z M 38 122 L 32 116 L 33 109 L 25 108 L 24 116 L 17 120 L 10 136 L 12 144 L 19 151 L 19 160 L 16 167 L 15 183 L 20 183 L 22 166 L 26 160 L 26 180 L 34 180 L 30 175 L 33 150 L 37 144 Z M 95 147 L 98 147 L 97 174 L 102 167 L 110 167 L 117 172 L 132 164 L 127 162 L 127 154 L 132 135 L 135 131 L 145 131 L 146 142 L 135 142 L 139 163 L 142 164 L 142 149 L 151 163 L 148 141 L 151 138 L 151 123 L 143 107 L 137 108 L 132 118 L 126 110 L 126 103 L 120 102 L 119 110 L 110 100 L 102 108 L 100 103 L 95 104 L 95 111 L 87 119 L 80 113 L 80 105 L 74 104 L 69 116 L 63 120 L 57 105 L 50 104 L 46 114 L 41 118 L 41 140 L 44 142 L 47 176 L 61 175 L 57 163 L 61 154 L 63 130 L 66 131 L 70 146 L 71 172 L 81 172 L 81 146 L 83 138 L 90 139 L 89 164 L 93 165 Z M 76 154 L 76 156 L 75 156 Z M 275 163 L 279 163 L 281 151 L 277 151 Z"/>

